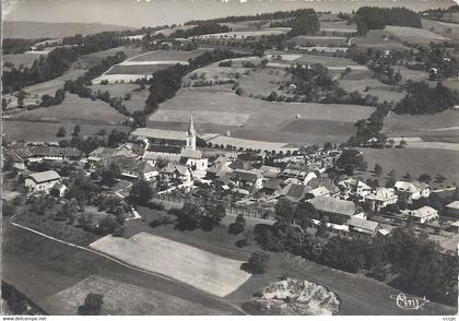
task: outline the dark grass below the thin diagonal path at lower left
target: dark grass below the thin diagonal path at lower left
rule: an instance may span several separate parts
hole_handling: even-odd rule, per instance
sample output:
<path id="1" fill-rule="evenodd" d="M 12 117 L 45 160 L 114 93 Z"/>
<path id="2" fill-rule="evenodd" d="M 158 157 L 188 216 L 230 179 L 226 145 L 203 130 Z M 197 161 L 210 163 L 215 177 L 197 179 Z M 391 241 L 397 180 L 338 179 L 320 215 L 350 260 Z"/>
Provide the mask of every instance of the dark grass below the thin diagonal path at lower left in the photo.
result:
<path id="1" fill-rule="evenodd" d="M 73 286 L 90 275 L 103 275 L 119 282 L 120 285 L 130 284 L 151 289 L 156 295 L 163 294 L 164 297 L 170 298 L 173 302 L 179 298 L 189 301 L 189 306 L 204 306 L 225 314 L 239 313 L 226 302 L 178 282 L 128 269 L 101 255 L 11 226 L 5 221 L 2 226 L 2 277 L 50 314 L 62 312 L 61 307 L 49 304 L 47 297 Z M 137 287 L 133 288 L 139 289 Z M 57 296 L 54 298 L 58 299 Z M 157 302 L 163 301 L 152 299 L 150 305 Z M 167 306 L 167 309 L 162 311 L 165 314 L 189 314 L 188 310 L 180 311 L 174 306 Z"/>

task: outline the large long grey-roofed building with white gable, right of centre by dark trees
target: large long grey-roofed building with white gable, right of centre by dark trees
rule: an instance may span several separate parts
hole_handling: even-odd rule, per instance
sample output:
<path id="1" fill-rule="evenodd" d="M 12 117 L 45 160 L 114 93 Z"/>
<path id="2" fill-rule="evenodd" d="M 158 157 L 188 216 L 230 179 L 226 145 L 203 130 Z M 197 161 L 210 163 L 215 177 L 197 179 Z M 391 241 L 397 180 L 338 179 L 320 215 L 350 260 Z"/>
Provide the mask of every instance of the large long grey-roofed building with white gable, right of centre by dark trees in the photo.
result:
<path id="1" fill-rule="evenodd" d="M 328 216 L 331 223 L 343 225 L 351 217 L 366 218 L 365 213 L 351 201 L 329 197 L 317 197 L 308 201 L 320 213 Z"/>

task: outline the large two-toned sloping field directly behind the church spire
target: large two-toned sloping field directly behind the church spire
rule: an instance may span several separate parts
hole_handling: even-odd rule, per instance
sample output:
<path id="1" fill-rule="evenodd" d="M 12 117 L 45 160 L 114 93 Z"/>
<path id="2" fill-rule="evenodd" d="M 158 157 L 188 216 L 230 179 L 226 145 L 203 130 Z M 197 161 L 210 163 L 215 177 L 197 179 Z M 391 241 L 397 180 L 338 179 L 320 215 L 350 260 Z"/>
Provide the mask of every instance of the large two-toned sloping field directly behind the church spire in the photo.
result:
<path id="1" fill-rule="evenodd" d="M 221 124 L 222 120 L 213 123 L 200 123 L 196 121 L 197 129 L 200 132 L 217 132 L 231 135 L 237 139 L 262 140 L 279 143 L 306 144 L 323 143 L 325 140 L 332 142 L 342 142 L 353 133 L 350 123 L 357 119 L 367 118 L 374 110 L 372 107 L 354 105 L 326 105 L 307 103 L 270 103 L 261 99 L 238 96 L 229 91 L 226 85 L 212 87 L 183 88 L 177 95 L 163 103 L 160 110 L 175 110 L 175 118 L 169 115 L 167 121 L 160 121 L 156 114 L 150 117 L 150 126 L 163 129 L 179 129 L 186 127 L 181 122 L 184 118 L 178 117 L 179 112 L 188 115 L 193 112 L 212 111 L 213 117 L 225 119 L 228 110 L 235 114 L 249 115 L 248 119 L 239 127 Z M 161 116 L 162 114 L 160 114 Z M 164 115 L 164 114 L 163 114 Z M 316 123 L 330 126 L 330 122 L 339 123 L 337 127 L 322 126 L 318 132 L 311 132 L 307 127 L 297 127 L 294 131 L 287 131 L 291 122 L 297 122 L 301 119 L 314 120 Z M 232 115 L 233 117 L 233 115 Z M 161 120 L 164 120 L 161 117 Z M 348 124 L 346 124 L 348 123 Z M 343 135 L 342 126 L 349 128 L 348 135 Z M 285 130 L 287 129 L 287 130 Z"/>

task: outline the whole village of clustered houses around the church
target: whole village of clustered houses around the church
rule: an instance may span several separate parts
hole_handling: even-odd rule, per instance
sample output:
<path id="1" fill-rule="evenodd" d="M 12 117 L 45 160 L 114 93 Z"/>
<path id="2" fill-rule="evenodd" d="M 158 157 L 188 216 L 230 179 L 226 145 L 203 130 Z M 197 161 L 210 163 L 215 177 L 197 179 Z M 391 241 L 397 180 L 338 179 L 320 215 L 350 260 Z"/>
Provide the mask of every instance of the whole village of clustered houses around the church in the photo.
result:
<path id="1" fill-rule="evenodd" d="M 396 204 L 407 209 L 405 205 L 431 194 L 428 185 L 417 181 L 372 188 L 355 177 L 331 179 L 326 170 L 340 153 L 338 148 L 296 153 L 271 158 L 267 165 L 267 152 L 203 151 L 197 148 L 191 116 L 186 132 L 139 128 L 131 133 L 129 143 L 118 148 L 98 147 L 87 156 L 76 148 L 59 146 L 13 148 L 7 154 L 20 170 L 28 163 L 44 159 L 78 162 L 86 173 L 115 164 L 123 179 L 151 181 L 165 193 L 175 189 L 189 191 L 204 183 L 221 190 L 223 195 L 233 194 L 250 202 L 275 204 L 280 198 L 294 203 L 309 202 L 321 216 L 327 215 L 331 227 L 367 235 L 386 233 L 377 222 L 368 221 L 367 214 L 390 212 L 387 209 Z M 66 185 L 56 170 L 31 173 L 24 185 L 30 192 L 52 191 L 57 195 L 66 192 Z M 459 218 L 459 201 L 447 209 L 451 216 Z M 402 210 L 398 214 L 420 224 L 438 218 L 438 212 L 431 206 Z"/>

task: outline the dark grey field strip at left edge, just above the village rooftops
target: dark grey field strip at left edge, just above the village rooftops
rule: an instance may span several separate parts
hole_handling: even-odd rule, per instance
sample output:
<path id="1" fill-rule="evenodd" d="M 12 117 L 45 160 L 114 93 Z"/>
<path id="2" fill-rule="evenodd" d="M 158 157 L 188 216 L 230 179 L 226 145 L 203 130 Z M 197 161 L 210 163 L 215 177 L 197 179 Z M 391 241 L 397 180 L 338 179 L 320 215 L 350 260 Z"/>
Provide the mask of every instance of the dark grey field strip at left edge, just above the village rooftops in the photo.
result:
<path id="1" fill-rule="evenodd" d="M 10 141 L 30 141 L 30 142 L 57 142 L 61 138 L 57 138 L 56 133 L 59 128 L 63 127 L 68 135 L 63 139 L 70 139 L 70 133 L 73 131 L 74 123 L 70 122 L 44 122 L 44 121 L 2 121 L 3 135 Z M 130 127 L 119 124 L 81 124 L 81 135 L 95 135 L 99 130 L 105 129 L 107 133 L 111 130 L 120 130 L 129 132 Z"/>

